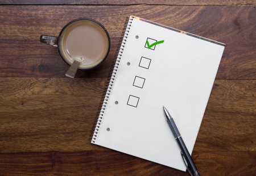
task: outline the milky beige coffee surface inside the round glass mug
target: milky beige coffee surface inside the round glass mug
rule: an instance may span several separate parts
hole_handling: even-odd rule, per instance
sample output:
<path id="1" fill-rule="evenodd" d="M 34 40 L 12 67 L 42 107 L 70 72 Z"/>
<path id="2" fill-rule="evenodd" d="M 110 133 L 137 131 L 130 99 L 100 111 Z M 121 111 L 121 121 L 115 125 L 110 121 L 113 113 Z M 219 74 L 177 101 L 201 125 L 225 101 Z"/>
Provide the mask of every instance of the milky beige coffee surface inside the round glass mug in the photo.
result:
<path id="1" fill-rule="evenodd" d="M 80 61 L 79 68 L 90 68 L 101 62 L 108 51 L 108 37 L 94 22 L 85 20 L 68 26 L 62 35 L 61 49 L 65 60 Z"/>

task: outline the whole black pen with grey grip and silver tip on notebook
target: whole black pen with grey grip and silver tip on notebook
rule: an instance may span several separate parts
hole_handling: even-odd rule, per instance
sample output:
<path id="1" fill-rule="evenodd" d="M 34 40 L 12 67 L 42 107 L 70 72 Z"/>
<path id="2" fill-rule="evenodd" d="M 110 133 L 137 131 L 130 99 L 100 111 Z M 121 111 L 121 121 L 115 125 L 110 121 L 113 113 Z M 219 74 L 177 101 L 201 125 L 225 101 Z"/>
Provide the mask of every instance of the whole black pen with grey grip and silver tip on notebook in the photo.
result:
<path id="1" fill-rule="evenodd" d="M 172 119 L 172 116 L 169 114 L 169 112 L 166 110 L 166 108 L 164 106 L 163 106 L 163 109 L 164 109 L 164 114 L 166 115 L 167 123 L 169 124 L 169 126 L 172 130 L 172 133 L 174 133 L 174 137 L 180 146 L 180 149 L 181 149 L 180 153 L 181 153 L 181 156 L 183 158 L 183 161 L 187 167 L 189 174 L 191 174 L 192 176 L 200 176 L 199 173 L 197 172 L 196 165 L 194 164 L 194 162 L 188 152 L 188 149 L 184 144 L 184 141 L 180 135 L 180 132 L 176 127 L 174 119 Z"/>

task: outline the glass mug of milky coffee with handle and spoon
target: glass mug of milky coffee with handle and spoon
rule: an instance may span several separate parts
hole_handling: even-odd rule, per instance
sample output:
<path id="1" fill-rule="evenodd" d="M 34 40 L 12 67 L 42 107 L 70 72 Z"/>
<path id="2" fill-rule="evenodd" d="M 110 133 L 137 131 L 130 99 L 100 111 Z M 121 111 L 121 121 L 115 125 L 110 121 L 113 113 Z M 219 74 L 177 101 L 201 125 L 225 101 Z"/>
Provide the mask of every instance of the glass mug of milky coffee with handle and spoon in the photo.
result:
<path id="1" fill-rule="evenodd" d="M 110 49 L 109 33 L 99 22 L 89 18 L 75 19 L 66 24 L 59 37 L 41 35 L 40 41 L 58 47 L 60 56 L 71 65 L 65 76 L 74 78 L 77 69 L 100 65 Z"/>

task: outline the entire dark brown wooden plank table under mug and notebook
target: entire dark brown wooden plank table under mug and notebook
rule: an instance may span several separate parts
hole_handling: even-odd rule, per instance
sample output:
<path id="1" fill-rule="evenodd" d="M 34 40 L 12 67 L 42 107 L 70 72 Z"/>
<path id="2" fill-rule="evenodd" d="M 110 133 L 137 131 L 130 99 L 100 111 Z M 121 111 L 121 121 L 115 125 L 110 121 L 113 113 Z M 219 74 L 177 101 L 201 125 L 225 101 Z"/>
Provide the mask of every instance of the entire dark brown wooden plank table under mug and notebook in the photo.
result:
<path id="1" fill-rule="evenodd" d="M 256 1 L 0 2 L 0 175 L 188 175 L 90 143 L 129 15 L 226 44 L 192 158 L 201 175 L 255 175 Z M 57 48 L 69 21 L 109 32 L 108 58 L 75 79 Z"/>

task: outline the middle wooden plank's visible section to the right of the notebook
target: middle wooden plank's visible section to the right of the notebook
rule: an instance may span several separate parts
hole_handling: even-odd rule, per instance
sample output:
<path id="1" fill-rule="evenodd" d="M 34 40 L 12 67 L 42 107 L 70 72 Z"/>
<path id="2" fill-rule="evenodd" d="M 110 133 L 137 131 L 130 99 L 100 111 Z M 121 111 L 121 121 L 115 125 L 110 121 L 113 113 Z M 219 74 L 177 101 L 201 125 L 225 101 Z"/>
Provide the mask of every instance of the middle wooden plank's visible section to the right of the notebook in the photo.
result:
<path id="1" fill-rule="evenodd" d="M 256 151 L 256 80 L 214 82 L 195 148 Z"/>

